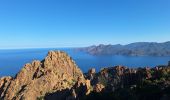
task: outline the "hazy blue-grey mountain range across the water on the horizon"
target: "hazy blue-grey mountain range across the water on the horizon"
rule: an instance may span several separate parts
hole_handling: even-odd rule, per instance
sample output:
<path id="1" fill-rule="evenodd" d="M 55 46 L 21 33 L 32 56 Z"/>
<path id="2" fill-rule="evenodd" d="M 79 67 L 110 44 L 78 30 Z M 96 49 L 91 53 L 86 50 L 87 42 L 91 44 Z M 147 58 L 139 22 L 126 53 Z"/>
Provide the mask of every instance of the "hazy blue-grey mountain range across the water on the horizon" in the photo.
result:
<path id="1" fill-rule="evenodd" d="M 170 56 L 170 41 L 135 42 L 127 45 L 103 45 L 78 48 L 92 55 L 127 55 L 127 56 Z"/>

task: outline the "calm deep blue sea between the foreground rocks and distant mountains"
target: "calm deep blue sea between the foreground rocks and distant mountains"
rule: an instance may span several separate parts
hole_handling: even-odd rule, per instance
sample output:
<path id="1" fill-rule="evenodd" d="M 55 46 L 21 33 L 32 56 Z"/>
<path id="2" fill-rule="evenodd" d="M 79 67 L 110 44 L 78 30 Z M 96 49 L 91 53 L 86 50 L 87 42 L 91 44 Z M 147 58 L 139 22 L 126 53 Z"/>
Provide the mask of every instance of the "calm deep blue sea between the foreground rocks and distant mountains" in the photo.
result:
<path id="1" fill-rule="evenodd" d="M 24 64 L 32 60 L 42 60 L 49 50 L 63 50 L 67 52 L 81 68 L 87 72 L 89 68 L 100 70 L 103 67 L 125 65 L 129 67 L 154 67 L 164 65 L 170 57 L 135 57 L 135 56 L 92 56 L 73 49 L 22 49 L 22 50 L 0 50 L 0 77 L 15 76 Z"/>

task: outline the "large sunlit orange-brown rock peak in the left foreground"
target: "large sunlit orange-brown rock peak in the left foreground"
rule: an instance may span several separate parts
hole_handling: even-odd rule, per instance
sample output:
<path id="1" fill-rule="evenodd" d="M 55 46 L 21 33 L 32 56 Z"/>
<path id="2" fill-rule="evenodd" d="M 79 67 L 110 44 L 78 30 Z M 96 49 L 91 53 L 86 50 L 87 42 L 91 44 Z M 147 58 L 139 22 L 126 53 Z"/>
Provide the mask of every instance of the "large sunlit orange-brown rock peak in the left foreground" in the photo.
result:
<path id="1" fill-rule="evenodd" d="M 47 93 L 70 89 L 83 73 L 66 53 L 50 51 L 43 61 L 33 61 L 24 66 L 1 93 L 5 100 L 36 100 Z M 4 79 L 2 79 L 4 80 Z M 2 88 L 0 81 L 0 89 Z M 7 84 L 6 83 L 6 84 Z M 5 84 L 5 85 L 6 85 Z"/>

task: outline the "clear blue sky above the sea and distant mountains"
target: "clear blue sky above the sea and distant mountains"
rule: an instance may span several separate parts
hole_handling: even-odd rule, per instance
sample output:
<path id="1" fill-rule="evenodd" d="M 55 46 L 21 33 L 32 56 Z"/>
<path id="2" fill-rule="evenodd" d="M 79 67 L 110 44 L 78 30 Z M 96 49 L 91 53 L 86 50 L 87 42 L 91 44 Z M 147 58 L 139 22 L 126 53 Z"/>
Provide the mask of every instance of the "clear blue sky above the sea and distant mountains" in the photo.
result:
<path id="1" fill-rule="evenodd" d="M 170 41 L 170 0 L 0 0 L 0 49 Z"/>

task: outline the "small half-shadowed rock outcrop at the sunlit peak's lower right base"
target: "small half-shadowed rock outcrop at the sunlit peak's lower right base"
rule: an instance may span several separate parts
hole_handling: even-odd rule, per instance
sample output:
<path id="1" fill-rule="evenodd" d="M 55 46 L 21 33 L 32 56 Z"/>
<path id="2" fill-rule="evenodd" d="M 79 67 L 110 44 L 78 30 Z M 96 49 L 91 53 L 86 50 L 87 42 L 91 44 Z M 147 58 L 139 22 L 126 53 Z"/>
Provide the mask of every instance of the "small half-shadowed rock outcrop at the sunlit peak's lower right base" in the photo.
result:
<path id="1" fill-rule="evenodd" d="M 90 80 L 78 78 L 71 89 L 49 93 L 45 96 L 45 100 L 85 100 L 91 91 Z"/>

